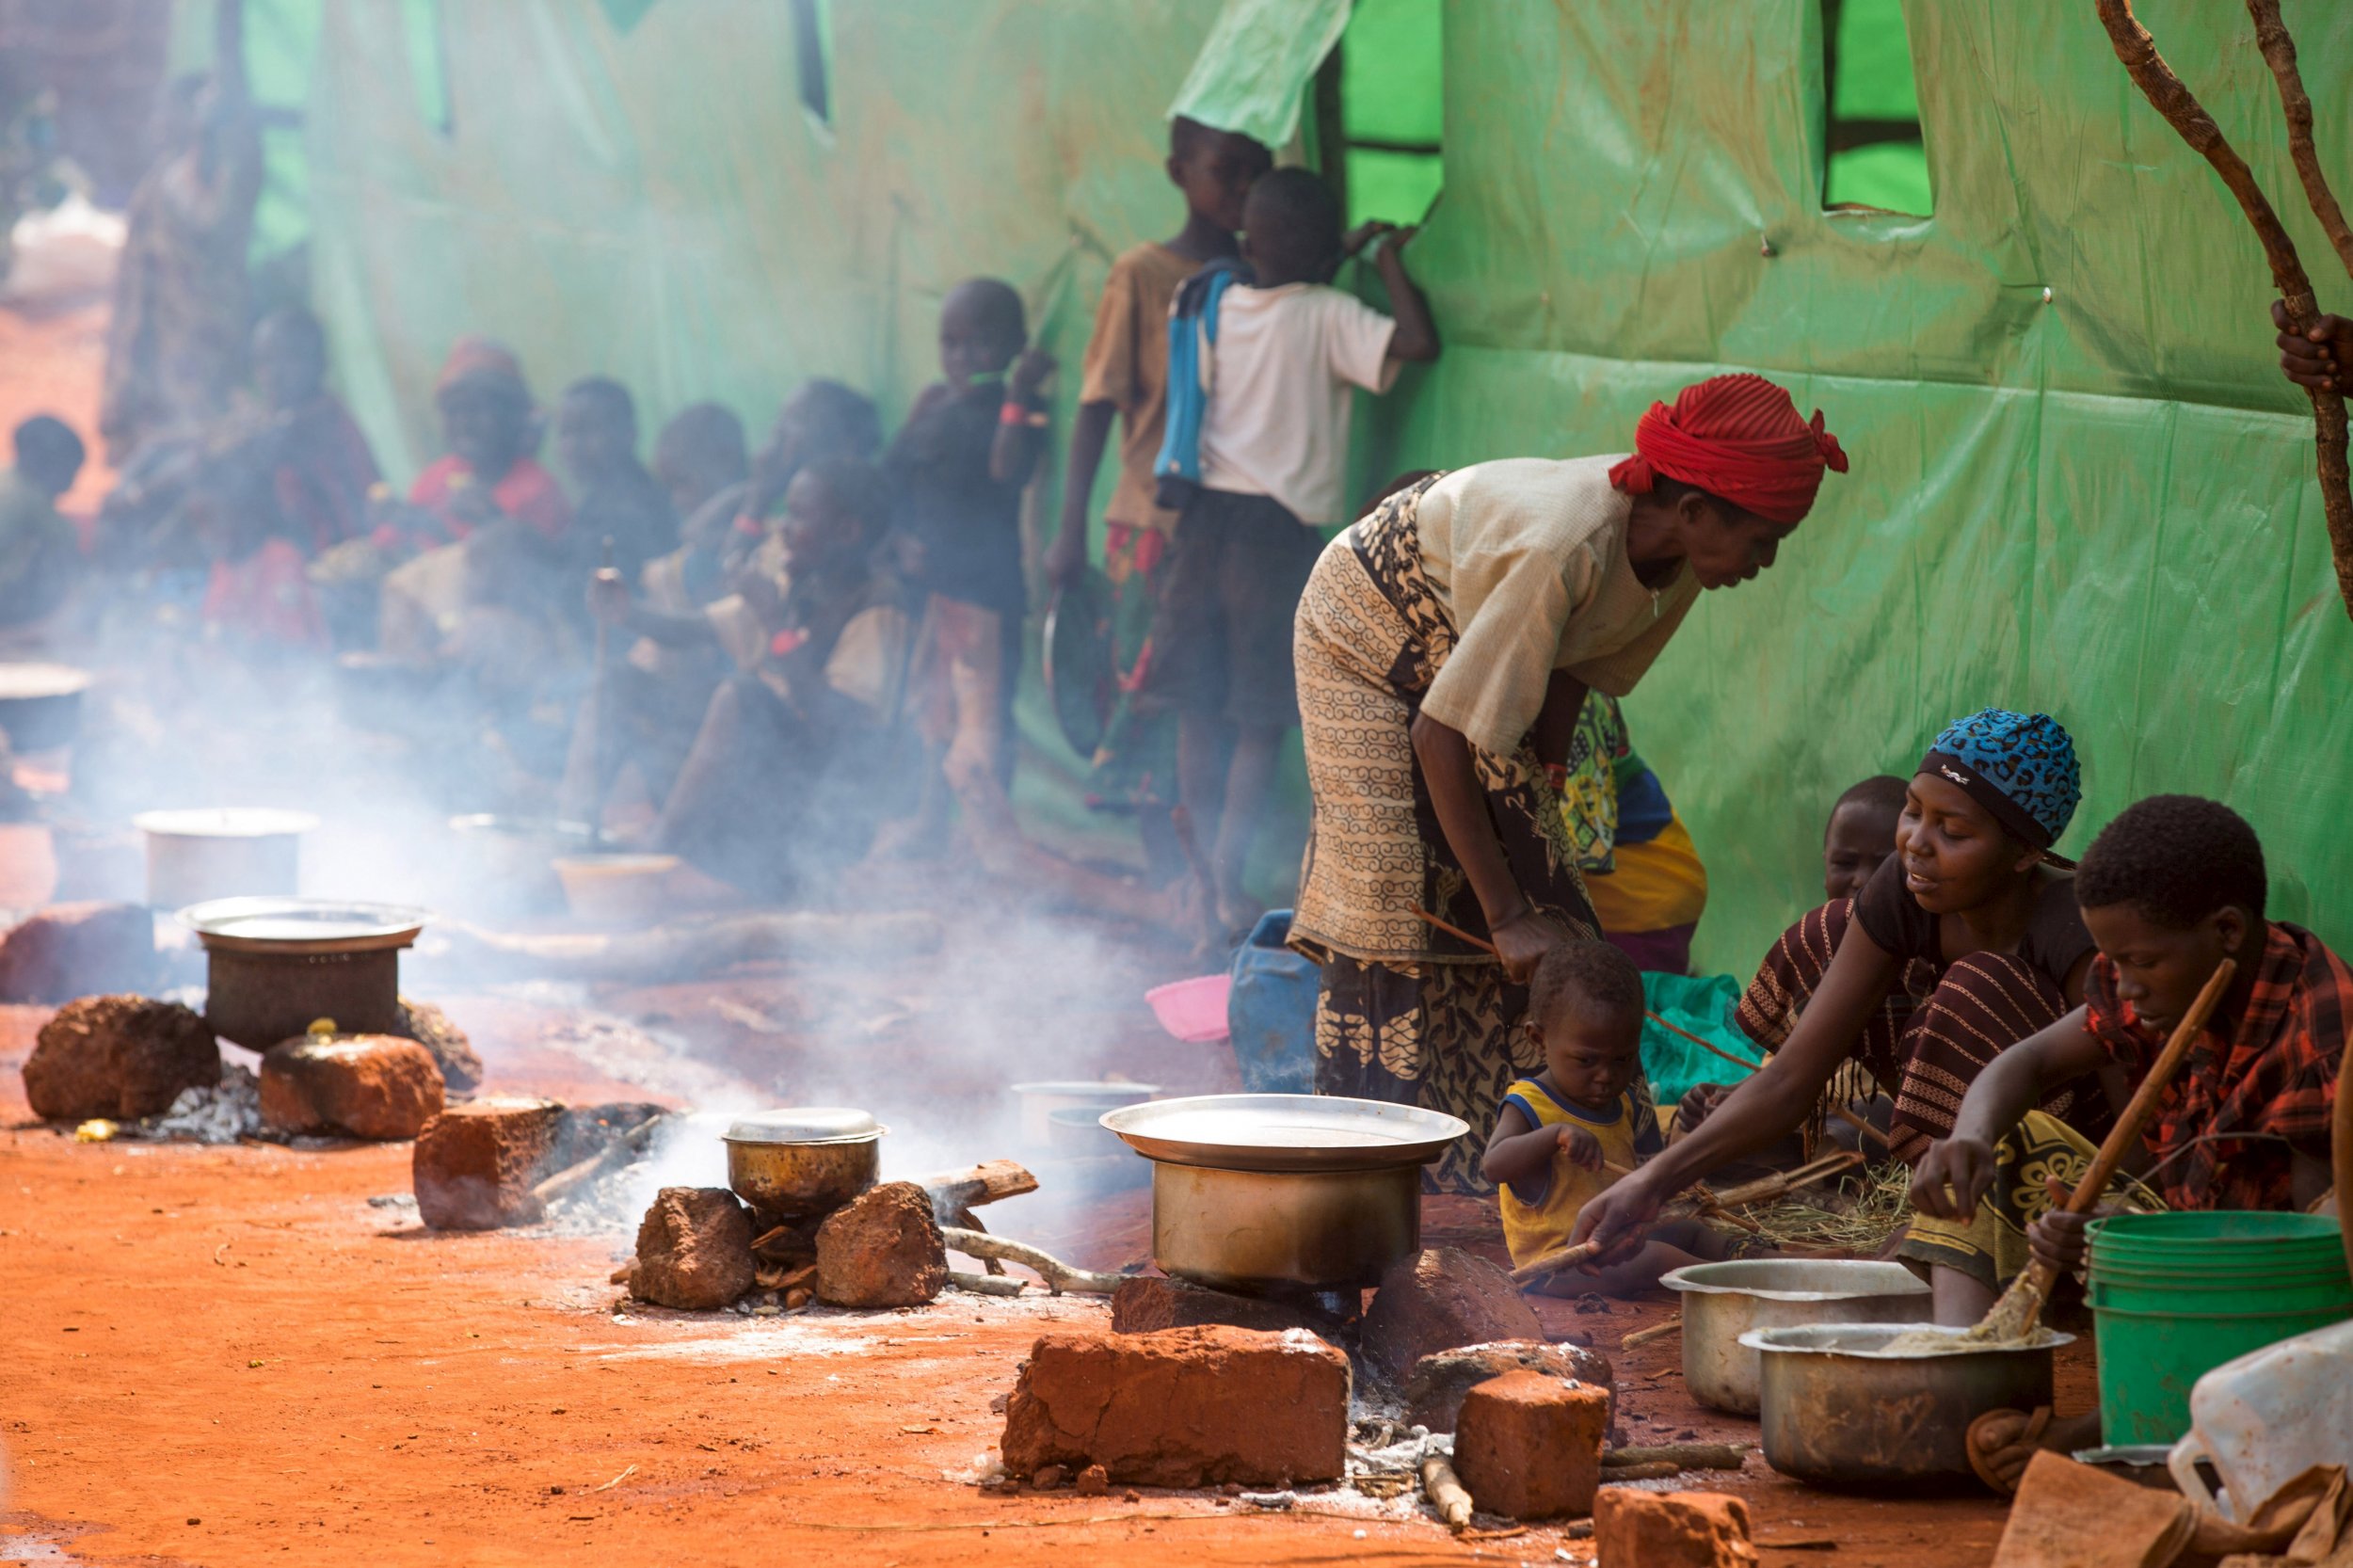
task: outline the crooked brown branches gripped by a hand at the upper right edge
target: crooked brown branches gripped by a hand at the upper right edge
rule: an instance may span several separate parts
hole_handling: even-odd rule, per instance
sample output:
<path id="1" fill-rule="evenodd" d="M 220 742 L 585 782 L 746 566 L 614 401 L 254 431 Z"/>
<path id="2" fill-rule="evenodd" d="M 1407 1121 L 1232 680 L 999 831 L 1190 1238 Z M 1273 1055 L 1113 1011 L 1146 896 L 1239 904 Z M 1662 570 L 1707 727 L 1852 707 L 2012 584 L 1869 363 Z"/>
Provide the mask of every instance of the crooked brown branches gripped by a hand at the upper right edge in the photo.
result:
<path id="1" fill-rule="evenodd" d="M 2165 64 L 2165 57 L 2158 54 L 2158 40 L 2132 14 L 2132 0 L 2094 0 L 2094 5 L 2101 26 L 2108 28 L 2108 42 L 2115 45 L 2115 59 L 2125 64 L 2125 73 L 2132 75 L 2134 87 L 2191 144 L 2191 151 L 2214 165 L 2214 174 L 2238 198 L 2238 210 L 2247 214 L 2254 238 L 2264 245 L 2264 259 L 2271 264 L 2271 283 L 2280 290 L 2289 330 L 2306 332 L 2320 320 L 2320 299 L 2313 294 L 2313 280 L 2304 273 L 2304 259 L 2297 257 L 2297 245 L 2287 238 L 2280 214 L 2273 212 L 2264 188 L 2254 184 L 2247 160 L 2231 148 L 2221 127 L 2214 125 L 2214 115 L 2205 111 L 2191 89 L 2181 85 L 2181 78 L 2174 75 L 2174 68 Z M 2280 35 L 2285 38 L 2285 28 L 2280 28 Z M 2257 40 L 2264 40 L 2261 14 L 2257 14 Z M 2268 49 L 2266 59 L 2271 59 Z M 2294 71 L 2294 57 L 2287 64 Z M 2271 66 L 2273 75 L 2280 75 L 2280 61 L 2271 59 Z M 2299 97 L 2301 87 L 2301 80 L 2297 80 Z M 2287 92 L 2287 78 L 2280 80 L 2280 89 L 2282 94 Z M 2292 115 L 2294 108 L 2289 106 L 2289 137 L 2294 139 L 2297 127 Z M 2329 238 L 2334 240 L 2334 235 Z M 2341 393 L 2320 386 L 2306 386 L 2304 393 L 2313 403 L 2320 511 L 2329 525 L 2337 593 L 2346 603 L 2346 614 L 2353 614 L 2353 476 L 2346 471 L 2346 400 Z"/>

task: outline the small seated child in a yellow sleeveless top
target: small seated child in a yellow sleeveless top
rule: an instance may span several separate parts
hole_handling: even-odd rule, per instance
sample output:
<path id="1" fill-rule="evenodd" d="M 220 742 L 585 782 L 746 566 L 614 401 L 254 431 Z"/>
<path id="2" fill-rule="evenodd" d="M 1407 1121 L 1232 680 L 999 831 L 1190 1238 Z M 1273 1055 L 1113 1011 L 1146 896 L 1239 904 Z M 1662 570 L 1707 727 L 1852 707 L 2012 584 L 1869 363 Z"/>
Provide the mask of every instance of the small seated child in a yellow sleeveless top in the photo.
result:
<path id="1" fill-rule="evenodd" d="M 1544 1071 L 1504 1095 L 1480 1170 L 1499 1187 L 1511 1262 L 1569 1245 L 1586 1203 L 1659 1154 L 1642 1067 L 1642 972 L 1607 942 L 1565 942 L 1544 956 L 1527 989 L 1527 1029 L 1544 1045 Z M 1633 1295 L 1668 1269 L 1715 1262 L 1729 1238 L 1697 1220 L 1649 1227 L 1624 1262 L 1565 1269 L 1529 1285 L 1546 1295 Z"/>

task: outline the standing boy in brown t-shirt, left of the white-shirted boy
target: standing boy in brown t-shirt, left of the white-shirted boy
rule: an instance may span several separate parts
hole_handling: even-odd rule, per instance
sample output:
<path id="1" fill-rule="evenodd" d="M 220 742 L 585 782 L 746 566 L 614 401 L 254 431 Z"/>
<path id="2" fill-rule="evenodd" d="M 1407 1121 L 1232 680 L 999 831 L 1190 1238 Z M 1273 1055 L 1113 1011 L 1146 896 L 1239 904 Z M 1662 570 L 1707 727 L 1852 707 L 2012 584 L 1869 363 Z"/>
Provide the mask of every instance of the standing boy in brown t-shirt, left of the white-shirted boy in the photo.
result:
<path id="1" fill-rule="evenodd" d="M 1139 690 L 1151 669 L 1153 593 L 1176 513 L 1153 499 L 1153 457 L 1167 414 L 1169 304 L 1205 261 L 1240 254 L 1235 231 L 1249 186 L 1273 167 L 1264 144 L 1186 120 L 1169 122 L 1169 184 L 1184 193 L 1184 228 L 1120 252 L 1104 278 L 1094 334 L 1080 370 L 1071 464 L 1061 485 L 1061 532 L 1045 570 L 1056 589 L 1087 567 L 1087 504 L 1094 471 L 1120 421 L 1120 480 L 1104 506 L 1104 574 L 1111 577 L 1111 657 L 1118 699 L 1094 753 L 1089 793 L 1134 805 L 1146 845 L 1176 791 L 1174 732 L 1165 706 Z"/>

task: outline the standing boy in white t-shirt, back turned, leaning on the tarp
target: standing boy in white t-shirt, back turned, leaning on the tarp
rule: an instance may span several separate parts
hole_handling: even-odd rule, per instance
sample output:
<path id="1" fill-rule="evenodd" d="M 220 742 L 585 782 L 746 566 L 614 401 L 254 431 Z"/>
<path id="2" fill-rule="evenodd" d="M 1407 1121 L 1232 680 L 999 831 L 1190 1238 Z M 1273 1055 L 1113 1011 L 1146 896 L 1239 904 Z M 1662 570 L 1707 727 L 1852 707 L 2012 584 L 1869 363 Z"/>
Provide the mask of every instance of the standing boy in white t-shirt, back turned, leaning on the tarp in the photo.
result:
<path id="1" fill-rule="evenodd" d="M 1257 918 L 1242 864 L 1275 749 L 1299 723 L 1292 617 L 1322 551 L 1315 530 L 1346 520 L 1353 388 L 1386 391 L 1402 360 L 1438 358 L 1400 254 L 1412 233 L 1365 224 L 1344 238 L 1332 186 L 1306 170 L 1266 174 L 1242 205 L 1252 280 L 1219 301 L 1200 487 L 1169 544 L 1148 676 L 1179 713 L 1186 810 L 1217 824 L 1217 913 L 1233 930 Z M 1341 259 L 1374 240 L 1395 320 L 1332 287 Z"/>

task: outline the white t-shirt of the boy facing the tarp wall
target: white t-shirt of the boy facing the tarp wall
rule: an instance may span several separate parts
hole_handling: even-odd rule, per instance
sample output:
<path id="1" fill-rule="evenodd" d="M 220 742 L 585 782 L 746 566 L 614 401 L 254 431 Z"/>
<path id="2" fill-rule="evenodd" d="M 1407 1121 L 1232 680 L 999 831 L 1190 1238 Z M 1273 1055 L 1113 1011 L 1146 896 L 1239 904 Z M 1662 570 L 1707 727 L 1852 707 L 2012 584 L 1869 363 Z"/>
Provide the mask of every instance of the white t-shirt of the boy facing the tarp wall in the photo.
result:
<path id="1" fill-rule="evenodd" d="M 1200 421 L 1202 487 L 1273 497 L 1301 523 L 1344 523 L 1353 388 L 1398 379 L 1395 330 L 1327 283 L 1226 290 Z"/>

